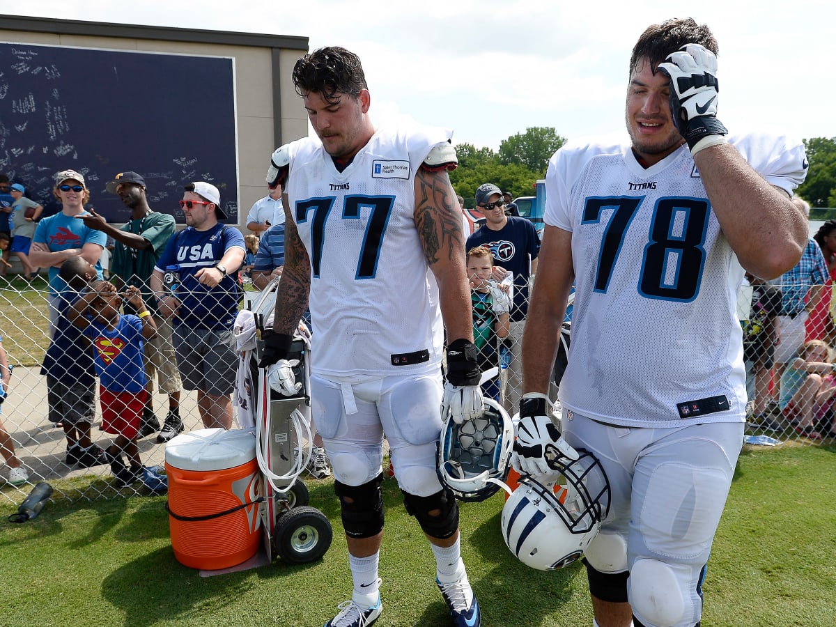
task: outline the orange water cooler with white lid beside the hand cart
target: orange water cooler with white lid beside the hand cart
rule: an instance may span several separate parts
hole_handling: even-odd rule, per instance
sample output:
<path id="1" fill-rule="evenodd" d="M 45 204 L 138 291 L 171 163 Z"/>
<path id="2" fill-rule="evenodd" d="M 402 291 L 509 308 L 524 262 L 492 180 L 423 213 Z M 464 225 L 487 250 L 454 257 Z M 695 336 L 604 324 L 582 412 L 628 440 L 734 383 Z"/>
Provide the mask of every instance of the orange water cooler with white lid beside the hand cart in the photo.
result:
<path id="1" fill-rule="evenodd" d="M 230 568 L 262 540 L 261 475 L 252 431 L 201 429 L 166 445 L 171 548 L 190 568 Z"/>

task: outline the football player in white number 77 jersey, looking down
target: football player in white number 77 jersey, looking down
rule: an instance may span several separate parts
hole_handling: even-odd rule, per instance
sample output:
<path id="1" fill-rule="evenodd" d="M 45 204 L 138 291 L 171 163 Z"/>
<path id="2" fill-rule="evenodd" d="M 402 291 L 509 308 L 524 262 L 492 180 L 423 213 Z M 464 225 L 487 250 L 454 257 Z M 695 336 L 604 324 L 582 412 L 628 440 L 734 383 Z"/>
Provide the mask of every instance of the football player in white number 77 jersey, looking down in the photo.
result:
<path id="1" fill-rule="evenodd" d="M 282 146 L 268 171 L 268 184 L 284 186 L 287 230 L 259 366 L 275 364 L 281 385 L 295 390 L 288 348 L 309 301 L 312 412 L 334 470 L 354 581 L 327 627 L 364 627 L 382 609 L 384 434 L 453 622 L 474 627 L 481 614 L 461 561 L 458 508 L 436 473 L 441 415 L 449 410 L 461 422 L 482 414 L 461 210 L 446 173 L 456 166 L 451 133 L 375 130 L 360 61 L 344 48 L 299 59 L 293 84 L 319 139 Z"/>

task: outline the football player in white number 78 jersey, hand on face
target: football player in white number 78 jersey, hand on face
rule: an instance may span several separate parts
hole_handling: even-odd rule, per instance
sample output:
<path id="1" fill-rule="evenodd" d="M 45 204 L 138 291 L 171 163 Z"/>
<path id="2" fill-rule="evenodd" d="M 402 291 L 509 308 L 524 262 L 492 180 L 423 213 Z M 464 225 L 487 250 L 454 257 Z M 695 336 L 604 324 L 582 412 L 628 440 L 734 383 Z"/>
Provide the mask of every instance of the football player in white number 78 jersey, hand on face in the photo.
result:
<path id="1" fill-rule="evenodd" d="M 777 277 L 807 243 L 790 201 L 803 145 L 727 135 L 716 50 L 692 19 L 647 28 L 630 59 L 630 141 L 568 143 L 546 174 L 514 463 L 544 474 L 548 455 L 584 447 L 604 466 L 613 500 L 585 552 L 599 627 L 699 624 L 743 440 L 737 288 L 743 268 Z M 561 436 L 546 391 L 573 283 Z"/>

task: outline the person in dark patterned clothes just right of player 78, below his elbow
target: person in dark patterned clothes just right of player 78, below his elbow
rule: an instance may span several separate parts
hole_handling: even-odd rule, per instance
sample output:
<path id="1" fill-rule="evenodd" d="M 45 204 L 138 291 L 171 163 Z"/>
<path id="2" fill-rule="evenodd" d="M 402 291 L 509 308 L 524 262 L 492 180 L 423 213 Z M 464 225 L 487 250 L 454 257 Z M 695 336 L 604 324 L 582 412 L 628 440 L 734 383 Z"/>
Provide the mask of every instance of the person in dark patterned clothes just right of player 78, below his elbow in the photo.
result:
<path id="1" fill-rule="evenodd" d="M 743 325 L 743 359 L 747 364 L 747 379 L 752 380 L 752 385 L 747 385 L 752 401 L 752 421 L 764 431 L 781 431 L 781 426 L 766 415 L 775 363 L 775 320 L 781 312 L 781 290 L 752 274 L 747 273 L 746 277 L 752 285 L 752 313 Z"/>

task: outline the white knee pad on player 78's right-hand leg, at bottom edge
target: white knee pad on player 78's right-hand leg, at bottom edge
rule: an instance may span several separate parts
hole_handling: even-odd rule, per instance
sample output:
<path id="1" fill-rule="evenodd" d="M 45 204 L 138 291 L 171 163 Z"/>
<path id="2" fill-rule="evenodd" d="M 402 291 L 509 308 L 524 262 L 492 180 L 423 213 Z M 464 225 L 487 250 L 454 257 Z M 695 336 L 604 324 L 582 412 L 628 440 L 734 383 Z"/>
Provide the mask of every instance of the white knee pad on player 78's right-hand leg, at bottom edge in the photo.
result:
<path id="1" fill-rule="evenodd" d="M 638 559 L 630 570 L 630 606 L 651 624 L 678 624 L 685 614 L 676 573 L 658 559 Z"/>

